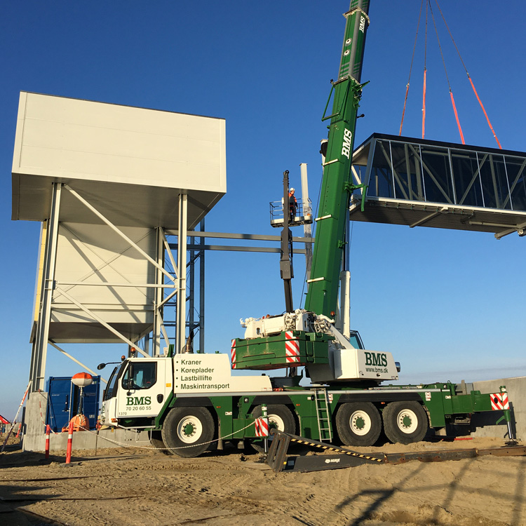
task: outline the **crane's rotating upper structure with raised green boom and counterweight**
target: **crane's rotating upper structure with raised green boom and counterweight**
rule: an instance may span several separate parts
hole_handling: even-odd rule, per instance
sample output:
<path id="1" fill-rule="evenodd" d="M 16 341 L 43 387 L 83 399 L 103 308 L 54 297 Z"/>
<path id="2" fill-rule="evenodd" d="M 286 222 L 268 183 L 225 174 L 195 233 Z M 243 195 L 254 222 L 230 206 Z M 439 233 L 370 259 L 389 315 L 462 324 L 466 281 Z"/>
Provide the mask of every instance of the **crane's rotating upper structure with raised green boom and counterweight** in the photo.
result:
<path id="1" fill-rule="evenodd" d="M 232 343 L 232 368 L 278 369 L 290 367 L 289 377 L 296 367 L 305 365 L 313 382 L 369 382 L 398 379 L 396 363 L 391 353 L 365 351 L 357 332 L 335 327 L 338 304 L 339 276 L 345 248 L 349 198 L 356 187 L 351 184 L 351 155 L 354 130 L 362 85 L 365 34 L 369 25 L 369 0 L 351 0 L 344 13 L 346 27 L 342 58 L 329 102 L 334 93 L 323 163 L 321 201 L 314 241 L 311 279 L 305 309 L 292 311 L 289 296 L 287 311 L 280 316 L 241 320 L 245 338 Z M 327 112 L 327 107 L 325 112 Z M 287 203 L 285 205 L 285 202 Z M 288 201 L 284 195 L 285 215 Z M 285 217 L 283 236 L 288 232 Z M 290 285 L 289 262 L 282 236 L 281 274 L 285 280 L 285 297 Z M 344 264 L 345 267 L 345 264 Z M 344 269 L 346 270 L 346 269 Z M 289 291 L 290 292 L 290 291 Z M 342 324 L 339 323 L 339 327 Z"/>

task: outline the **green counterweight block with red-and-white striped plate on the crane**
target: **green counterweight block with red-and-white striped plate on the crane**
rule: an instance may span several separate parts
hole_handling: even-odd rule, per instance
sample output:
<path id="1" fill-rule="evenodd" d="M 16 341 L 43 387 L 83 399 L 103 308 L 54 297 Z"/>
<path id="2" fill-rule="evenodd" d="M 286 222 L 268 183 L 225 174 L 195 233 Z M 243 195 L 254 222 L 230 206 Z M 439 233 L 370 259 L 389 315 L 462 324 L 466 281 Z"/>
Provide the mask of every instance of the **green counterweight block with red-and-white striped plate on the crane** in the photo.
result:
<path id="1" fill-rule="evenodd" d="M 291 331 L 297 345 L 297 354 L 287 353 L 287 342 L 281 332 L 276 336 L 235 340 L 236 360 L 232 367 L 236 370 L 272 370 L 282 367 L 299 367 L 309 363 L 329 363 L 328 342 L 332 337 L 321 332 Z"/>

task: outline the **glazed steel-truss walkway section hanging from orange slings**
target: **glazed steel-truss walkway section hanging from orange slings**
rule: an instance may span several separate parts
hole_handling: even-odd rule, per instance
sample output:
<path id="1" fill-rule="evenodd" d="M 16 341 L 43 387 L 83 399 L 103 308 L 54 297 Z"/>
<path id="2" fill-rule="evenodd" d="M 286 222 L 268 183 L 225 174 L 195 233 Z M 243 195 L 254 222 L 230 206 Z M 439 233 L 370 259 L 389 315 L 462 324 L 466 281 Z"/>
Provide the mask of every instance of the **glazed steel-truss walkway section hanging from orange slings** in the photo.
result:
<path id="1" fill-rule="evenodd" d="M 350 219 L 524 236 L 525 172 L 523 152 L 374 133 L 353 153 Z"/>

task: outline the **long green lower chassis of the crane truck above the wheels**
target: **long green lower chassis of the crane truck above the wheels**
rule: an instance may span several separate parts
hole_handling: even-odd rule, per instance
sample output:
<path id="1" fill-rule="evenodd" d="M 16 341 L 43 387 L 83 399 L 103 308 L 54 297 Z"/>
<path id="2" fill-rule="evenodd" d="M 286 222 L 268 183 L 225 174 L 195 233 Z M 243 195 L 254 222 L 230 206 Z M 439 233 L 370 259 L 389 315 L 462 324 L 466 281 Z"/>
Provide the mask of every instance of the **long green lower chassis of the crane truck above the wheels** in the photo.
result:
<path id="1" fill-rule="evenodd" d="M 279 338 L 276 337 L 276 341 Z M 243 342 L 243 340 L 241 340 Z M 284 337 L 281 340 L 284 343 Z M 314 343 L 323 343 L 314 340 Z M 326 344 L 326 342 L 325 342 Z M 267 358 L 268 359 L 268 358 Z M 261 367 L 258 367 L 261 368 Z M 271 368 L 271 367 L 270 367 Z M 492 394 L 471 391 L 469 393 L 457 394 L 455 384 L 445 382 L 443 384 L 427 385 L 389 385 L 381 389 L 350 389 L 348 386 L 330 386 L 327 389 L 328 414 L 324 416 L 326 424 L 330 427 L 332 436 L 336 436 L 335 417 L 344 403 L 356 403 L 370 401 L 382 412 L 386 404 L 394 401 L 414 400 L 422 403 L 429 414 L 429 424 L 433 428 L 444 427 L 447 423 L 454 423 L 456 419 L 464 419 L 468 423 L 474 413 L 486 412 L 494 415 L 494 424 L 502 421 L 511 421 L 510 410 L 494 410 L 492 407 Z M 503 386 L 503 389 L 504 386 Z M 215 419 L 217 425 L 216 438 L 222 437 L 226 440 L 255 439 L 262 440 L 256 436 L 252 412 L 255 407 L 262 403 L 267 405 L 286 405 L 297 422 L 296 433 L 304 438 L 313 440 L 328 440 L 328 432 L 322 430 L 316 414 L 316 396 L 309 386 L 297 386 L 296 388 L 279 389 L 279 392 L 246 393 L 243 395 L 222 394 L 218 396 L 198 396 L 177 398 L 177 394 L 167 400 L 165 407 L 158 417 L 152 420 L 151 429 L 162 429 L 166 414 L 171 407 L 179 406 L 201 406 L 207 407 Z M 276 398 L 276 395 L 278 398 Z M 141 426 L 145 423 L 137 419 L 126 419 L 121 421 L 125 427 Z M 149 427 L 149 426 L 147 426 Z"/>

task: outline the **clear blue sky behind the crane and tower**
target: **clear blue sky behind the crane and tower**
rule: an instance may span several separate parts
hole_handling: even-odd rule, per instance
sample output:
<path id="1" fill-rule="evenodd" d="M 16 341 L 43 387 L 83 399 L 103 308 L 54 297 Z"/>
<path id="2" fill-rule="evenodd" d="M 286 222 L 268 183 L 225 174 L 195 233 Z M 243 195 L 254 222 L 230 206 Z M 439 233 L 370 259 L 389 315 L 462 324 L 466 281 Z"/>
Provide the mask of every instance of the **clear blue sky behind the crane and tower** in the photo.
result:
<path id="1" fill-rule="evenodd" d="M 335 78 L 348 0 L 254 3 L 29 1 L 0 5 L 0 303 L 4 324 L 0 414 L 13 417 L 29 377 L 39 224 L 11 221 L 11 163 L 20 90 L 165 109 L 227 121 L 227 195 L 209 231 L 277 234 L 269 201 L 283 170 L 299 187 L 308 163 L 313 201 L 321 177 L 321 115 Z M 433 7 L 436 4 L 432 4 Z M 524 151 L 526 8 L 490 0 L 440 3 L 505 149 Z M 356 143 L 397 134 L 420 2 L 372 0 Z M 438 15 L 438 10 L 436 10 Z M 447 32 L 438 20 L 466 143 L 495 147 Z M 459 142 L 429 22 L 426 138 Z M 403 135 L 422 123 L 421 25 Z M 295 232 L 300 235 L 300 232 Z M 351 324 L 367 348 L 391 351 L 405 382 L 525 375 L 526 238 L 385 224 L 353 224 Z M 302 290 L 296 258 L 295 304 Z M 275 255 L 214 252 L 207 259 L 208 351 L 241 337 L 239 318 L 283 311 Z M 88 365 L 121 346 L 66 346 Z M 79 366 L 48 351 L 47 376 Z"/>

